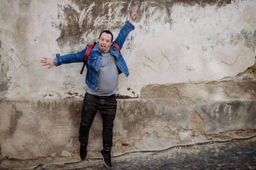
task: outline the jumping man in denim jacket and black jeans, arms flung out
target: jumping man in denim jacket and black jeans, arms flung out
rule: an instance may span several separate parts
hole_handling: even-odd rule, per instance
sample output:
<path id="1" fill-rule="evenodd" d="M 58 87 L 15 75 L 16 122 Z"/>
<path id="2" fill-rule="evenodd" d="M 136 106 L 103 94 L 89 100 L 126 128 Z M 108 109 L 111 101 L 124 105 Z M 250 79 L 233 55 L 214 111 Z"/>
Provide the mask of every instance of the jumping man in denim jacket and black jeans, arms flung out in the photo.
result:
<path id="1" fill-rule="evenodd" d="M 129 71 L 120 49 L 124 44 L 129 32 L 134 29 L 134 19 L 138 8 L 134 8 L 129 21 L 120 30 L 118 37 L 113 42 L 113 34 L 108 30 L 100 33 L 98 42 L 89 53 L 86 61 L 87 74 L 85 83 L 87 92 L 83 100 L 82 116 L 79 129 L 79 141 L 81 160 L 87 156 L 87 144 L 89 129 L 94 121 L 96 112 L 100 112 L 103 119 L 103 149 L 100 155 L 103 156 L 104 164 L 111 168 L 111 148 L 113 146 L 113 127 L 116 117 L 116 90 L 118 90 L 118 75 L 124 73 L 129 76 Z M 120 49 L 118 49 L 118 48 Z M 56 58 L 43 58 L 43 66 L 59 66 L 72 62 L 84 62 L 85 47 L 78 53 L 70 53 L 64 56 L 56 54 Z"/>

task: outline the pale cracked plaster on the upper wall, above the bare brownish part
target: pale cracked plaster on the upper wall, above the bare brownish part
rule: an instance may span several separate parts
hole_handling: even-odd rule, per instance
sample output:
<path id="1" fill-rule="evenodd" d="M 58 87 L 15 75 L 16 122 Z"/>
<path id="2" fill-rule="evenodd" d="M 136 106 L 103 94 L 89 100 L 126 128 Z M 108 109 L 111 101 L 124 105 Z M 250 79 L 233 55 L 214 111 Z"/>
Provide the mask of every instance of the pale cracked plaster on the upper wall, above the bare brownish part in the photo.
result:
<path id="1" fill-rule="evenodd" d="M 255 1 L 1 1 L 1 94 L 60 99 L 83 95 L 82 64 L 40 66 L 42 57 L 81 51 L 103 29 L 116 37 L 140 8 L 123 56 L 120 95 L 148 84 L 209 82 L 233 77 L 255 62 Z M 127 88 L 131 90 L 127 90 Z"/>

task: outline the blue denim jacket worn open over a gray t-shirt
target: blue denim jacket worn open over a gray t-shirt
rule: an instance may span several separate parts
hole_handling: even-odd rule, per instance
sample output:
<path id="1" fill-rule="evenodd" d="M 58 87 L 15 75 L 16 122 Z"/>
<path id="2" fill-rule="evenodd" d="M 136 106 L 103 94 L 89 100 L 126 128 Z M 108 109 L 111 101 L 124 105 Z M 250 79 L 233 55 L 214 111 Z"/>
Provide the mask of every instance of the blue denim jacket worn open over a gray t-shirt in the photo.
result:
<path id="1" fill-rule="evenodd" d="M 128 34 L 134 30 L 134 25 L 132 25 L 129 21 L 126 21 L 125 25 L 120 30 L 118 37 L 114 40 L 113 43 L 116 43 L 120 49 L 122 49 L 122 45 L 125 43 L 125 40 Z M 84 62 L 85 51 L 87 47 L 78 53 L 70 53 L 64 56 L 60 56 L 59 53 L 56 54 L 56 58 L 54 58 L 55 66 L 59 66 L 61 64 L 69 64 L 72 62 Z M 119 73 L 124 73 L 126 77 L 129 76 L 129 71 L 127 65 L 125 63 L 124 58 L 122 58 L 122 54 L 114 45 L 111 45 L 110 51 L 111 55 L 116 57 L 116 65 L 118 66 Z M 98 70 L 100 69 L 100 62 L 103 56 L 101 55 L 98 49 L 98 42 L 94 46 L 94 48 L 90 51 L 89 57 L 86 62 L 87 73 L 85 77 L 85 83 L 87 86 L 96 90 L 98 88 L 99 82 L 99 73 Z"/>

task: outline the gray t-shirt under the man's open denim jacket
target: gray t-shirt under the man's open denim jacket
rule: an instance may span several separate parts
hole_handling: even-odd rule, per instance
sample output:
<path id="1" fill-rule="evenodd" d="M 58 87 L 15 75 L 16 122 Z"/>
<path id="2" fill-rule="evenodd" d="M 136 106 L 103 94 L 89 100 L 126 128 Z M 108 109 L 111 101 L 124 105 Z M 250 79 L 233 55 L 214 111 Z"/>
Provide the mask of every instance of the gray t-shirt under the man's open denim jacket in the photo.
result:
<path id="1" fill-rule="evenodd" d="M 110 53 L 102 53 L 103 60 L 100 63 L 98 89 L 87 87 L 87 93 L 98 96 L 109 96 L 118 90 L 118 67 L 116 58 Z"/>

